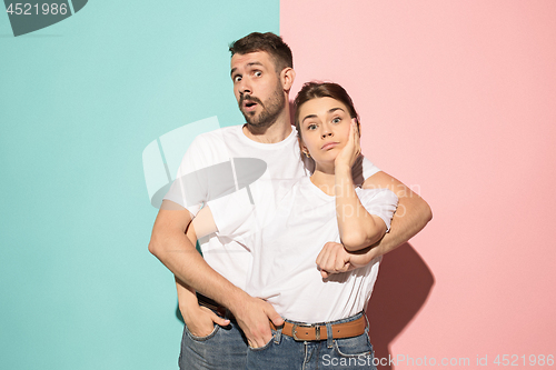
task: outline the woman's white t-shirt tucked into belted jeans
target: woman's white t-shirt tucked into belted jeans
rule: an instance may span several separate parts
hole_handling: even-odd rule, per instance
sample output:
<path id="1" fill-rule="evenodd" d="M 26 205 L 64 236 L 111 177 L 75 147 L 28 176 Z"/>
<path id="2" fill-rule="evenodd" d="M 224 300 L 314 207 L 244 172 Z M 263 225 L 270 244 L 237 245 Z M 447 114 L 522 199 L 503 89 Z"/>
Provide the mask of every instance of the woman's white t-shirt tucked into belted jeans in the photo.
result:
<path id="1" fill-rule="evenodd" d="M 335 321 L 360 312 L 370 299 L 380 259 L 322 279 L 317 256 L 326 242 L 340 242 L 335 197 L 317 188 L 309 177 L 282 181 L 276 191 L 276 203 L 250 204 L 241 193 L 208 202 L 218 234 L 231 236 L 251 250 L 246 292 L 299 322 Z M 356 193 L 367 211 L 380 217 L 389 229 L 396 194 L 358 188 Z M 228 217 L 231 212 L 235 219 Z"/>

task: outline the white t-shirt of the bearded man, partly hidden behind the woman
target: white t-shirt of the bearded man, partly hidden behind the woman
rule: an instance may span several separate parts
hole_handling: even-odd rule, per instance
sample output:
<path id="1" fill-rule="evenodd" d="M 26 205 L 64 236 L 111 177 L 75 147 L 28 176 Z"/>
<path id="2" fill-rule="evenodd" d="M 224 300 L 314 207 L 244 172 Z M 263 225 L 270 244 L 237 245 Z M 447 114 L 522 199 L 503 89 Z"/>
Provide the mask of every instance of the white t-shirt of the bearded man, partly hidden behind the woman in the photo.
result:
<path id="1" fill-rule="evenodd" d="M 354 167 L 354 179 L 363 183 L 363 179 L 378 171 L 369 160 L 363 159 Z M 181 204 L 193 216 L 208 201 L 234 192 L 248 197 L 252 204 L 275 204 L 279 193 L 275 191 L 277 183 L 308 176 L 294 127 L 285 140 L 260 143 L 247 138 L 242 126 L 232 126 L 200 134 L 193 140 L 165 199 Z M 230 220 L 241 219 L 234 212 L 228 217 Z M 207 263 L 245 290 L 252 263 L 249 249 L 226 236 L 211 234 L 199 243 Z"/>

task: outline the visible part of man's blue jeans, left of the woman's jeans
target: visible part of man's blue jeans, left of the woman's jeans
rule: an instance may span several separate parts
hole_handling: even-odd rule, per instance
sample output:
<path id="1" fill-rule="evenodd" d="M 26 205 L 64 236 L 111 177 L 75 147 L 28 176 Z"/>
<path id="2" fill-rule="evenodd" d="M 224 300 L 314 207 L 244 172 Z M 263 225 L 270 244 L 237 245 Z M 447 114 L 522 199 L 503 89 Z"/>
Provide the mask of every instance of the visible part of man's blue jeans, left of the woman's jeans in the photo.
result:
<path id="1" fill-rule="evenodd" d="M 196 337 L 185 326 L 178 364 L 181 370 L 245 369 L 247 348 L 244 332 L 235 320 L 227 327 L 215 324 L 207 337 Z"/>

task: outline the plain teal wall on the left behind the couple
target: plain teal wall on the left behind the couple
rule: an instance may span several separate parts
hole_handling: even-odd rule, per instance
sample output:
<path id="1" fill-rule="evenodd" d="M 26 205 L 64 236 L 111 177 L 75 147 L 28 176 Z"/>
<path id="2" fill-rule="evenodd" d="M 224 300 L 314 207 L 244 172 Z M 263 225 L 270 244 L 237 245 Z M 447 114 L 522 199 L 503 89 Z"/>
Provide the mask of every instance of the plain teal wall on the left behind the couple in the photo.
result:
<path id="1" fill-rule="evenodd" d="M 251 31 L 279 31 L 279 1 L 89 1 L 17 38 L 0 13 L 1 369 L 177 368 L 141 154 L 244 122 L 228 43 Z"/>

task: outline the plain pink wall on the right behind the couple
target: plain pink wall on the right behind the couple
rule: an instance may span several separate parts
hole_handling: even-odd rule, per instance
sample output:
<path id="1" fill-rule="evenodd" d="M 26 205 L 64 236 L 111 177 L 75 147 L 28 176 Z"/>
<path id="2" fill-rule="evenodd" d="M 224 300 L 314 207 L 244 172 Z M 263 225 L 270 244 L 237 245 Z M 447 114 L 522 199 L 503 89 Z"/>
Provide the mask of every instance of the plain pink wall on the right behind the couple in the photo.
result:
<path id="1" fill-rule="evenodd" d="M 434 211 L 404 248 L 435 283 L 393 356 L 556 354 L 555 19 L 553 0 L 281 1 L 292 98 L 342 84 L 364 153 Z M 383 267 L 410 268 L 400 253 Z"/>

